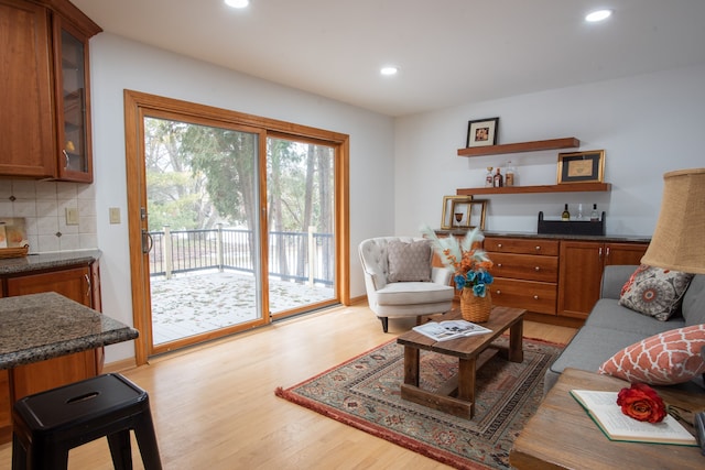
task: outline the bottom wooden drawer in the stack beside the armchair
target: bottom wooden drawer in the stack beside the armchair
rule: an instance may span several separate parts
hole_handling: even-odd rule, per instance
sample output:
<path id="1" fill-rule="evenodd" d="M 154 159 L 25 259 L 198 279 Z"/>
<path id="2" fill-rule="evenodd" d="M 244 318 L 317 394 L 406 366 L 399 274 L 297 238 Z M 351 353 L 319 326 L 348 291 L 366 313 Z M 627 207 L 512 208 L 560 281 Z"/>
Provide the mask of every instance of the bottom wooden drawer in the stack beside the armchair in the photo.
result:
<path id="1" fill-rule="evenodd" d="M 556 284 L 495 277 L 490 291 L 494 305 L 555 315 Z"/>

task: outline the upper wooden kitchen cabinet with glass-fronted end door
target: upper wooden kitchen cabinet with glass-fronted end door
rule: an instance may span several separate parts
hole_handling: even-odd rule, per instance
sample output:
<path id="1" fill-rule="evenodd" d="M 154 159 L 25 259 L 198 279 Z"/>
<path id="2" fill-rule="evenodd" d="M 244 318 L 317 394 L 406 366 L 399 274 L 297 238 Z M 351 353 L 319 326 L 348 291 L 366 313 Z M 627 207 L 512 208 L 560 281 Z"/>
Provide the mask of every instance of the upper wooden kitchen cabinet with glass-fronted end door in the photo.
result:
<path id="1" fill-rule="evenodd" d="M 0 0 L 0 175 L 93 182 L 88 40 L 67 0 Z"/>

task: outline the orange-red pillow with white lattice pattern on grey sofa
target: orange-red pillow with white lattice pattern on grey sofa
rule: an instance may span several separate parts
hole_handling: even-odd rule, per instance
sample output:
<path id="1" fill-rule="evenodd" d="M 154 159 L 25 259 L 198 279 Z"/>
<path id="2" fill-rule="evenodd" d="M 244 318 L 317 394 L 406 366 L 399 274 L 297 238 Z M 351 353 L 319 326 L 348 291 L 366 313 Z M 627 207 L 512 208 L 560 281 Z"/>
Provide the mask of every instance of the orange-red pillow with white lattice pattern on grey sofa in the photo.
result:
<path id="1" fill-rule="evenodd" d="M 651 385 L 687 382 L 705 373 L 703 346 L 705 325 L 672 329 L 628 346 L 605 361 L 598 372 Z"/>

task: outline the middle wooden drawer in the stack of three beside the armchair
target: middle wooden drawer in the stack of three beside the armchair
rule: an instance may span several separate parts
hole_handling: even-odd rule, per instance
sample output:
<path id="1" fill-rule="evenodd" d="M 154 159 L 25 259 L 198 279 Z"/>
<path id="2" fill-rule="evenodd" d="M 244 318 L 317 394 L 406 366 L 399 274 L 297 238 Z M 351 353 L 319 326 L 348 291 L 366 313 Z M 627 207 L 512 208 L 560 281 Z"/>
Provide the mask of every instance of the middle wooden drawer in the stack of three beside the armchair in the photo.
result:
<path id="1" fill-rule="evenodd" d="M 558 258 L 534 254 L 488 253 L 495 263 L 490 273 L 495 277 L 555 283 L 558 281 Z"/>

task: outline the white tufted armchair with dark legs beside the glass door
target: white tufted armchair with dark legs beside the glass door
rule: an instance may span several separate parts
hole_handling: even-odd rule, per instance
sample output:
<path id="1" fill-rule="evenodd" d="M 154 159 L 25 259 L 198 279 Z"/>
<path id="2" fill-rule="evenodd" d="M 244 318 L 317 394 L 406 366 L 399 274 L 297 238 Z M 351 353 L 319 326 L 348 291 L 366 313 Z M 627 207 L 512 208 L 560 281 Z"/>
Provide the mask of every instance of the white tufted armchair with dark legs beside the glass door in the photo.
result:
<path id="1" fill-rule="evenodd" d="M 423 315 L 451 310 L 453 273 L 445 267 L 432 266 L 433 249 L 429 240 L 411 237 L 372 238 L 364 240 L 358 251 L 367 299 L 381 320 L 384 332 L 389 328 L 389 317 L 413 316 L 419 323 Z M 425 270 L 424 263 L 427 263 Z"/>

